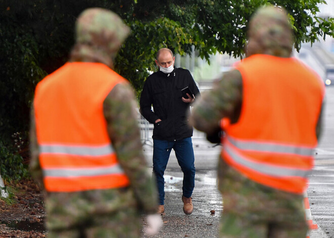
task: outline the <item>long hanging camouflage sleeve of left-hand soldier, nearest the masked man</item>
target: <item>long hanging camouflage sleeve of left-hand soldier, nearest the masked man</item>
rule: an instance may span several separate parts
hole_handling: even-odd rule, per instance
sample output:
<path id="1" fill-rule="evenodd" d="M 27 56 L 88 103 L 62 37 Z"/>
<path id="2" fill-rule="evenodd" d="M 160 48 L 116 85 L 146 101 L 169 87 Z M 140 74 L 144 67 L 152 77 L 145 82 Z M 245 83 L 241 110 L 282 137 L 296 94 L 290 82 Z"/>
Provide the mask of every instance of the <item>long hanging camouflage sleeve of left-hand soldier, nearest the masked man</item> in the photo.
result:
<path id="1" fill-rule="evenodd" d="M 129 177 L 131 187 L 144 211 L 155 213 L 157 191 L 147 171 L 136 107 L 133 89 L 128 84 L 117 84 L 103 104 L 108 133 L 119 164 Z"/>

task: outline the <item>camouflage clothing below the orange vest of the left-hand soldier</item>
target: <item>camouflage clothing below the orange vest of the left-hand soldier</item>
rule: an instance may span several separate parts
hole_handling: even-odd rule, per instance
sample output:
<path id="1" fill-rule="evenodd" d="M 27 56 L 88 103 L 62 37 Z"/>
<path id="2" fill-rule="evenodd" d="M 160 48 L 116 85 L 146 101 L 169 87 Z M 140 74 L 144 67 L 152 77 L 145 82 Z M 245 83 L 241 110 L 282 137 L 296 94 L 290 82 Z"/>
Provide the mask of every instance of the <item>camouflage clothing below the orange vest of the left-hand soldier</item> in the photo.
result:
<path id="1" fill-rule="evenodd" d="M 49 193 L 49 238 L 138 238 L 142 216 L 131 189 Z"/>

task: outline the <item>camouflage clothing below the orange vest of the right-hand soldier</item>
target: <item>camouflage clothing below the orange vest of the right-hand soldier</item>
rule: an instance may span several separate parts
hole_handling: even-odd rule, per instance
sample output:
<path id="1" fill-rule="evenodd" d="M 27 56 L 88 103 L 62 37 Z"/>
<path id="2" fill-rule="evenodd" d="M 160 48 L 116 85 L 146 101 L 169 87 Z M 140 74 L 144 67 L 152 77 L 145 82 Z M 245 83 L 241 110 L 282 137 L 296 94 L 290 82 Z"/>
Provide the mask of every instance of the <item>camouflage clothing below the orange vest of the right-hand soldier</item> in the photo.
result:
<path id="1" fill-rule="evenodd" d="M 303 195 L 247 179 L 221 158 L 218 187 L 223 197 L 221 238 L 305 238 Z"/>

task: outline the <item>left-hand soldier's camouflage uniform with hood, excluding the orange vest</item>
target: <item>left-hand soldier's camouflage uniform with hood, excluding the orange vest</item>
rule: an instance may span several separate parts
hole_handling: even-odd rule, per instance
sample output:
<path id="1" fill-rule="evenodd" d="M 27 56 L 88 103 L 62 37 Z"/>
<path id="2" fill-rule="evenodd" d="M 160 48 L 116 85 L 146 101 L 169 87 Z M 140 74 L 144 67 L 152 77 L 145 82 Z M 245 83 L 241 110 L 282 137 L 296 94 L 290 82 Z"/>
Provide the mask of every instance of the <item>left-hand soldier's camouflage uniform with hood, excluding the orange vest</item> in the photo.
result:
<path id="1" fill-rule="evenodd" d="M 77 41 L 70 61 L 101 62 L 112 67 L 113 57 L 129 34 L 121 19 L 110 11 L 90 9 L 80 15 L 76 27 Z M 49 237 L 139 237 L 141 213 L 156 211 L 157 192 L 147 173 L 132 87 L 117 84 L 105 99 L 103 109 L 118 162 L 131 185 L 46 194 Z M 33 112 L 30 138 L 30 170 L 43 185 Z"/>

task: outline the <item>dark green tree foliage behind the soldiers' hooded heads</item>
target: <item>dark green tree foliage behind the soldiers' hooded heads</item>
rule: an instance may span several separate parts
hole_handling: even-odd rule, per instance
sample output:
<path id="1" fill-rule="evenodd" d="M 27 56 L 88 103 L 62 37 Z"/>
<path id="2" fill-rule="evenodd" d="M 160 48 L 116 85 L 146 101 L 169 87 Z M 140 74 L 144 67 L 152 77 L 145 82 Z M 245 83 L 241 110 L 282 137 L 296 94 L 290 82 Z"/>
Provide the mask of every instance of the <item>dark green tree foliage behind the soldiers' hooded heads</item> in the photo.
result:
<path id="1" fill-rule="evenodd" d="M 115 59 L 115 70 L 137 92 L 155 70 L 157 49 L 191 53 L 202 59 L 216 52 L 242 55 L 247 22 L 260 6 L 286 8 L 295 47 L 334 36 L 334 19 L 316 16 L 323 0 L 5 0 L 0 3 L 0 156 L 12 164 L 28 160 L 29 110 L 36 83 L 68 60 L 74 22 L 90 7 L 114 11 L 132 34 Z M 16 142 L 15 142 L 16 141 Z M 18 146 L 17 141 L 20 141 Z M 5 151 L 5 152 L 4 152 Z M 6 165 L 7 166 L 7 165 Z M 1 166 L 1 173 L 8 171 Z"/>

